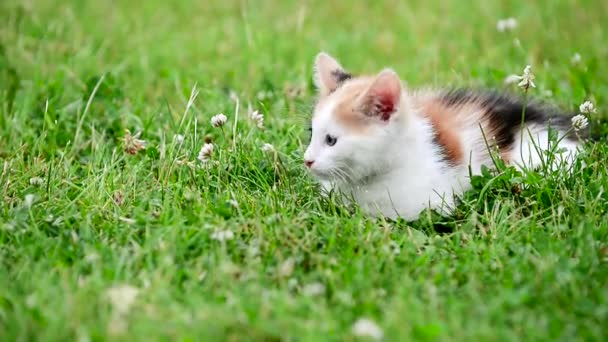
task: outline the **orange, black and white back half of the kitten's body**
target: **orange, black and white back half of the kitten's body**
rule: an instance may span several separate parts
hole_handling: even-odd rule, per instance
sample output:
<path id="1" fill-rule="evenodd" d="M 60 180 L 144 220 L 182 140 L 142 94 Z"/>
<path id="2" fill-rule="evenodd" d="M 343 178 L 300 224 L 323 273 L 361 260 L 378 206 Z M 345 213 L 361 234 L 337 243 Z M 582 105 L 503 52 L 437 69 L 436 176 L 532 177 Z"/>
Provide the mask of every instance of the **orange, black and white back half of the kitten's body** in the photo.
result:
<path id="1" fill-rule="evenodd" d="M 524 103 L 515 96 L 470 89 L 424 92 L 415 99 L 417 111 L 433 126 L 444 161 L 452 166 L 475 162 L 471 160 L 475 156 L 483 163 L 489 158 L 488 148 L 493 147 L 507 163 L 537 166 L 540 157 L 533 157 L 533 151 L 527 149 L 535 149 L 534 144 L 546 148 L 549 127 L 560 137 L 567 134 L 563 147 L 572 149 L 579 143 L 578 136 L 569 131 L 571 116 L 538 101 Z M 526 151 L 522 153 L 522 149 Z"/>

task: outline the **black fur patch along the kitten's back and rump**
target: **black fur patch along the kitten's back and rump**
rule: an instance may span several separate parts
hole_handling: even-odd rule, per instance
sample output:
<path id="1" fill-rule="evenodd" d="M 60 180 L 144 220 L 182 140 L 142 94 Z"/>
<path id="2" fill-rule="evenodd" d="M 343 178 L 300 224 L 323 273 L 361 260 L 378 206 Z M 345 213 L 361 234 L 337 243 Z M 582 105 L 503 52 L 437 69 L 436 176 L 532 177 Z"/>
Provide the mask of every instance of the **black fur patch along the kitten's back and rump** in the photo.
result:
<path id="1" fill-rule="evenodd" d="M 441 100 L 449 106 L 478 104 L 486 110 L 485 116 L 489 119 L 490 126 L 494 128 L 494 139 L 498 147 L 508 148 L 515 142 L 515 133 L 522 124 L 523 99 L 496 92 L 476 93 L 466 89 L 456 89 L 442 94 Z M 562 131 L 569 128 L 572 117 L 534 100 L 528 101 L 523 115 L 524 123 L 551 126 Z"/>

